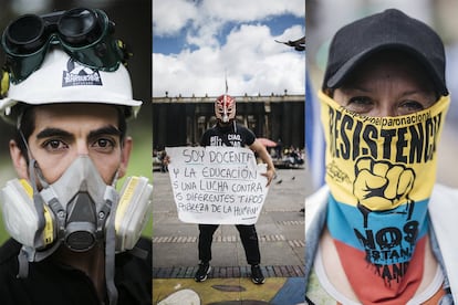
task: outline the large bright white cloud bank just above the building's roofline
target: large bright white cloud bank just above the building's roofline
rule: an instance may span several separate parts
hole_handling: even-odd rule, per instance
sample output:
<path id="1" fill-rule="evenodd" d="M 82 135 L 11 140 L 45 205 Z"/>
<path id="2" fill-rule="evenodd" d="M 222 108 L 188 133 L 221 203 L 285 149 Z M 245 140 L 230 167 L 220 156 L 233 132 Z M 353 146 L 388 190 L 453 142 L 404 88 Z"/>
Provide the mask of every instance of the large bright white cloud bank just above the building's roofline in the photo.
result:
<path id="1" fill-rule="evenodd" d="M 303 33 L 299 28 L 285 32 L 298 38 Z M 266 25 L 242 25 L 229 34 L 221 48 L 153 54 L 153 96 L 164 96 L 166 91 L 169 96 L 220 94 L 225 90 L 225 71 L 233 95 L 282 94 L 284 90 L 303 94 L 305 54 L 274 39 L 279 38 L 272 36 Z"/>

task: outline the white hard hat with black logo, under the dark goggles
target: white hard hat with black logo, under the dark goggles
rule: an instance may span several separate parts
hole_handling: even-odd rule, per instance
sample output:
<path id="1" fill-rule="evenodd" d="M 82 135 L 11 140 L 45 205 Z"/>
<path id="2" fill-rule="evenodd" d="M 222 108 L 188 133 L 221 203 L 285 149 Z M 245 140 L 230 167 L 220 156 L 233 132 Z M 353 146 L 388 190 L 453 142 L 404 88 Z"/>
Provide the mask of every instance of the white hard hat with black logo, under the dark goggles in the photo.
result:
<path id="1" fill-rule="evenodd" d="M 133 99 L 131 77 L 124 65 L 119 64 L 114 72 L 94 70 L 74 61 L 58 48 L 50 50 L 42 65 L 28 78 L 10 84 L 7 97 L 0 99 L 0 111 L 6 120 L 11 122 L 11 108 L 19 102 L 32 106 L 111 104 L 131 107 L 134 116 L 142 105 L 142 101 Z"/>

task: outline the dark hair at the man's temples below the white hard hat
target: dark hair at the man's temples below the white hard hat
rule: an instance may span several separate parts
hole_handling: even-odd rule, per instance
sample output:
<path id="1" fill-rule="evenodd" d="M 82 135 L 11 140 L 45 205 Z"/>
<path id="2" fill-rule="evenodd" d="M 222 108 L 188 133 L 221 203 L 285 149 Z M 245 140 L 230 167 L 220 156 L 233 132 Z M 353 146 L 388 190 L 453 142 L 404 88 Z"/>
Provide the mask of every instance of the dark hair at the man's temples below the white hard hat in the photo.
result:
<path id="1" fill-rule="evenodd" d="M 24 156 L 27 162 L 29 162 L 29 154 L 28 147 L 24 141 L 29 141 L 29 137 L 32 135 L 33 130 L 35 129 L 35 115 L 34 115 L 34 107 L 28 104 L 18 104 L 13 108 L 18 112 L 18 128 L 15 128 L 14 133 L 14 141 L 17 143 L 19 149 Z M 121 144 L 123 144 L 126 134 L 127 134 L 127 123 L 126 123 L 126 109 L 123 106 L 116 107 L 117 109 L 117 124 L 121 132 Z"/>

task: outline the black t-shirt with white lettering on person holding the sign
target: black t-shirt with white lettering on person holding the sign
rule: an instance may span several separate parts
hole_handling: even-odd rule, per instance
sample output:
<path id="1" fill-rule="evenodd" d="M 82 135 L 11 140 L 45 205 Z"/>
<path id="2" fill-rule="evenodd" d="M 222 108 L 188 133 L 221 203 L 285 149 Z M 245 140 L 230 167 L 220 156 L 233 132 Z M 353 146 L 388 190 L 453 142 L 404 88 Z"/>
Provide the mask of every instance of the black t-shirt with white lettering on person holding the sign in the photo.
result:
<path id="1" fill-rule="evenodd" d="M 243 125 L 233 123 L 228 126 L 220 126 L 217 124 L 204 133 L 200 146 L 244 147 L 252 145 L 254 140 L 254 134 Z"/>

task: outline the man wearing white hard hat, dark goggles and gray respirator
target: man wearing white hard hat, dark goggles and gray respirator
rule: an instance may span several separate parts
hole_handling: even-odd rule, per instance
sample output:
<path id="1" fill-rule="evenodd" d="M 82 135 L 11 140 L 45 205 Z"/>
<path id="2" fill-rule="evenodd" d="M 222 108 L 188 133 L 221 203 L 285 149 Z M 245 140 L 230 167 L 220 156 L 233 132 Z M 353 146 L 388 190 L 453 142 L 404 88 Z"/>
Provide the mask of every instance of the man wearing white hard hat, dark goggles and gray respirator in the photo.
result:
<path id="1" fill-rule="evenodd" d="M 1 190 L 1 304 L 150 304 L 152 187 L 126 173 L 128 54 L 102 10 L 22 15 L 3 32 L 2 117 L 18 178 Z M 2 82 L 4 84 L 4 82 Z"/>

